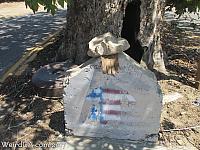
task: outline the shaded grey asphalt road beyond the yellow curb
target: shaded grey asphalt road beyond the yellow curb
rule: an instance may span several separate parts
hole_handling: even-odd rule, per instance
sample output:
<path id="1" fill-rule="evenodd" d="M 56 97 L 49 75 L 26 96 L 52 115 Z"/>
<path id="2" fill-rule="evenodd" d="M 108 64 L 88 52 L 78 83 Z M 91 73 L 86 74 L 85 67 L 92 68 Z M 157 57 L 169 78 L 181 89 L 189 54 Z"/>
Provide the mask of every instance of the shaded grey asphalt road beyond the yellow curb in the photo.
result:
<path id="1" fill-rule="evenodd" d="M 23 17 L 0 18 L 0 75 L 13 65 L 27 48 L 33 47 L 62 28 L 65 17 L 66 10 L 58 10 L 55 16 L 38 12 Z"/>

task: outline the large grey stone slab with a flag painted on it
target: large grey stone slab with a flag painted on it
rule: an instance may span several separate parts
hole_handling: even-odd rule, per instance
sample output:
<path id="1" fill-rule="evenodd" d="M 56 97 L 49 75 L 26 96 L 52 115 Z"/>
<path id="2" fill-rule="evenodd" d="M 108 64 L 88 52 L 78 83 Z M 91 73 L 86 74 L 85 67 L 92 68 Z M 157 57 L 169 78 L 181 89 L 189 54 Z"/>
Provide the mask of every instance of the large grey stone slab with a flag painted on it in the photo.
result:
<path id="1" fill-rule="evenodd" d="M 155 75 L 128 55 L 119 54 L 119 73 L 103 74 L 91 59 L 65 87 L 66 128 L 77 136 L 155 141 L 162 95 Z"/>

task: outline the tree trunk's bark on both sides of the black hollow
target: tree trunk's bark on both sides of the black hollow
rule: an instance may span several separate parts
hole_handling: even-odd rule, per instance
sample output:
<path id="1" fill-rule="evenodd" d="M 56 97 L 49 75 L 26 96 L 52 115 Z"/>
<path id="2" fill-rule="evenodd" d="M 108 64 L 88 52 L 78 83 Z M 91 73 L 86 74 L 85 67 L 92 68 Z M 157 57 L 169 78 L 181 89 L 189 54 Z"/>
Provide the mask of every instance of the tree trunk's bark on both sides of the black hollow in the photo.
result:
<path id="1" fill-rule="evenodd" d="M 132 2 L 141 3 L 138 6 L 141 13 L 136 12 L 137 9 L 130 12 L 138 14 L 140 18 L 136 19 L 134 15 L 133 18 L 129 17 L 136 24 L 139 21 L 139 31 L 132 36 L 137 38 L 142 47 L 147 48 L 147 66 L 165 71 L 160 45 L 163 0 L 72 0 L 67 11 L 65 48 L 60 51 L 61 59 L 81 64 L 88 59 L 88 42 L 93 37 L 106 32 L 121 36 L 126 7 Z"/>

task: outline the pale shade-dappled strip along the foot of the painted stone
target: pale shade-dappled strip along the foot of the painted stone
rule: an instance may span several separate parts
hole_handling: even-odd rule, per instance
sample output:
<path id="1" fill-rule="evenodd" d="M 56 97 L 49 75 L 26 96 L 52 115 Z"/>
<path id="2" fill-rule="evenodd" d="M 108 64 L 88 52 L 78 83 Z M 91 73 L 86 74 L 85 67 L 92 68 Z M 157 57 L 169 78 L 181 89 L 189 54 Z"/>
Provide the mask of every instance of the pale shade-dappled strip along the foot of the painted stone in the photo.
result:
<path id="1" fill-rule="evenodd" d="M 154 143 L 136 142 L 129 140 L 116 140 L 110 138 L 87 138 L 87 137 L 68 137 L 66 143 L 63 144 L 62 149 L 74 149 L 74 150 L 144 150 L 155 147 Z M 61 149 L 58 147 L 56 150 Z"/>

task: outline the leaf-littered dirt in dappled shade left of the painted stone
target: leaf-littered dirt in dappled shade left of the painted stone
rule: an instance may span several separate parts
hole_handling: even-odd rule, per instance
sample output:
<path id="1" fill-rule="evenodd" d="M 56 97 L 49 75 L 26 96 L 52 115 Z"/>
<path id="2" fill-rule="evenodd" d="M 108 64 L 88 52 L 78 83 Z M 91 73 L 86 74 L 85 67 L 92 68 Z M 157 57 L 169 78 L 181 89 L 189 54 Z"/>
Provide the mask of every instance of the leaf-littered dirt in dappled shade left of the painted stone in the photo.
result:
<path id="1" fill-rule="evenodd" d="M 40 66 L 56 61 L 62 38 L 59 35 L 40 51 L 22 75 L 10 76 L 0 84 L 0 141 L 48 143 L 64 134 L 61 101 L 39 97 L 31 82 Z"/>

